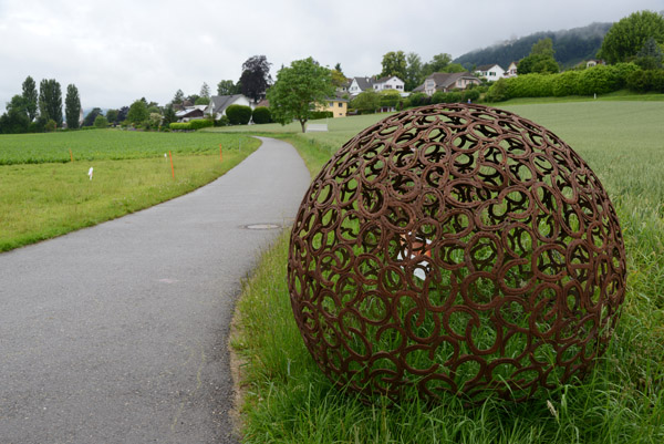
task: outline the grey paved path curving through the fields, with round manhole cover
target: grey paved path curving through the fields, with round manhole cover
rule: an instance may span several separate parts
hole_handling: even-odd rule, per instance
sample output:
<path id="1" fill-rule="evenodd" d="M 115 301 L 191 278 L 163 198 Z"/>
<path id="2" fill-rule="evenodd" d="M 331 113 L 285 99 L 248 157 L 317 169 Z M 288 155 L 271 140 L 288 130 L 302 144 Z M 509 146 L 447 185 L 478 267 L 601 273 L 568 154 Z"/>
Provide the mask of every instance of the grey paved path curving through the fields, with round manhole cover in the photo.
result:
<path id="1" fill-rule="evenodd" d="M 310 177 L 263 145 L 212 184 L 0 255 L 0 443 L 232 443 L 240 280 Z"/>

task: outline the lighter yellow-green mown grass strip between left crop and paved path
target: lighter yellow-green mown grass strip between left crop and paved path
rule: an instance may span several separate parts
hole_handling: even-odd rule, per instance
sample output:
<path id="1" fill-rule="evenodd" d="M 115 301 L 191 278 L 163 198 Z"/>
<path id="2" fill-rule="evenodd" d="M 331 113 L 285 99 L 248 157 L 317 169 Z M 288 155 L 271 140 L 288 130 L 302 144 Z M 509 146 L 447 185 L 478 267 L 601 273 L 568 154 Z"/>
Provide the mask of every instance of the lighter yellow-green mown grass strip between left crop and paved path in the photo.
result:
<path id="1" fill-rule="evenodd" d="M 0 251 L 151 207 L 221 176 L 260 145 L 216 154 L 0 166 Z M 217 148 L 218 149 L 218 148 Z M 87 177 L 94 168 L 93 179 Z"/>

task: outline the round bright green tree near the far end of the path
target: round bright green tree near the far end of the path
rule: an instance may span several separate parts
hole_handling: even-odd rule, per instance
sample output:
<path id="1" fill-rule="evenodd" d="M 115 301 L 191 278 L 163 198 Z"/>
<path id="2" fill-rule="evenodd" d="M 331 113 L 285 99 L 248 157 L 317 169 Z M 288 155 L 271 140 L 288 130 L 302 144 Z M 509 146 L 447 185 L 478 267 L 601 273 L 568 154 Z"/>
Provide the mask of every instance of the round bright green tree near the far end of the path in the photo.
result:
<path id="1" fill-rule="evenodd" d="M 312 58 L 295 60 L 277 73 L 277 82 L 268 91 L 270 113 L 282 125 L 297 120 L 304 132 L 305 123 L 317 106 L 325 106 L 334 94 L 332 74 Z"/>

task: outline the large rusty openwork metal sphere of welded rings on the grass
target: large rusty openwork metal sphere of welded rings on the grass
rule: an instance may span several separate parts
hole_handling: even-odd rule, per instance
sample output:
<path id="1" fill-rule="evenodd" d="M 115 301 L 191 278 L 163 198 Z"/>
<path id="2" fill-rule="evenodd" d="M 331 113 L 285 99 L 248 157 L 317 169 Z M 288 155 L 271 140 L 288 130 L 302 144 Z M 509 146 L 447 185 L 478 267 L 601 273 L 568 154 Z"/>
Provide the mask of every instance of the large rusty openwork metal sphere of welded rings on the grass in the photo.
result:
<path id="1" fill-rule="evenodd" d="M 439 104 L 391 115 L 325 164 L 288 285 L 339 386 L 526 400 L 604 351 L 625 252 L 606 192 L 564 142 L 506 111 Z"/>

